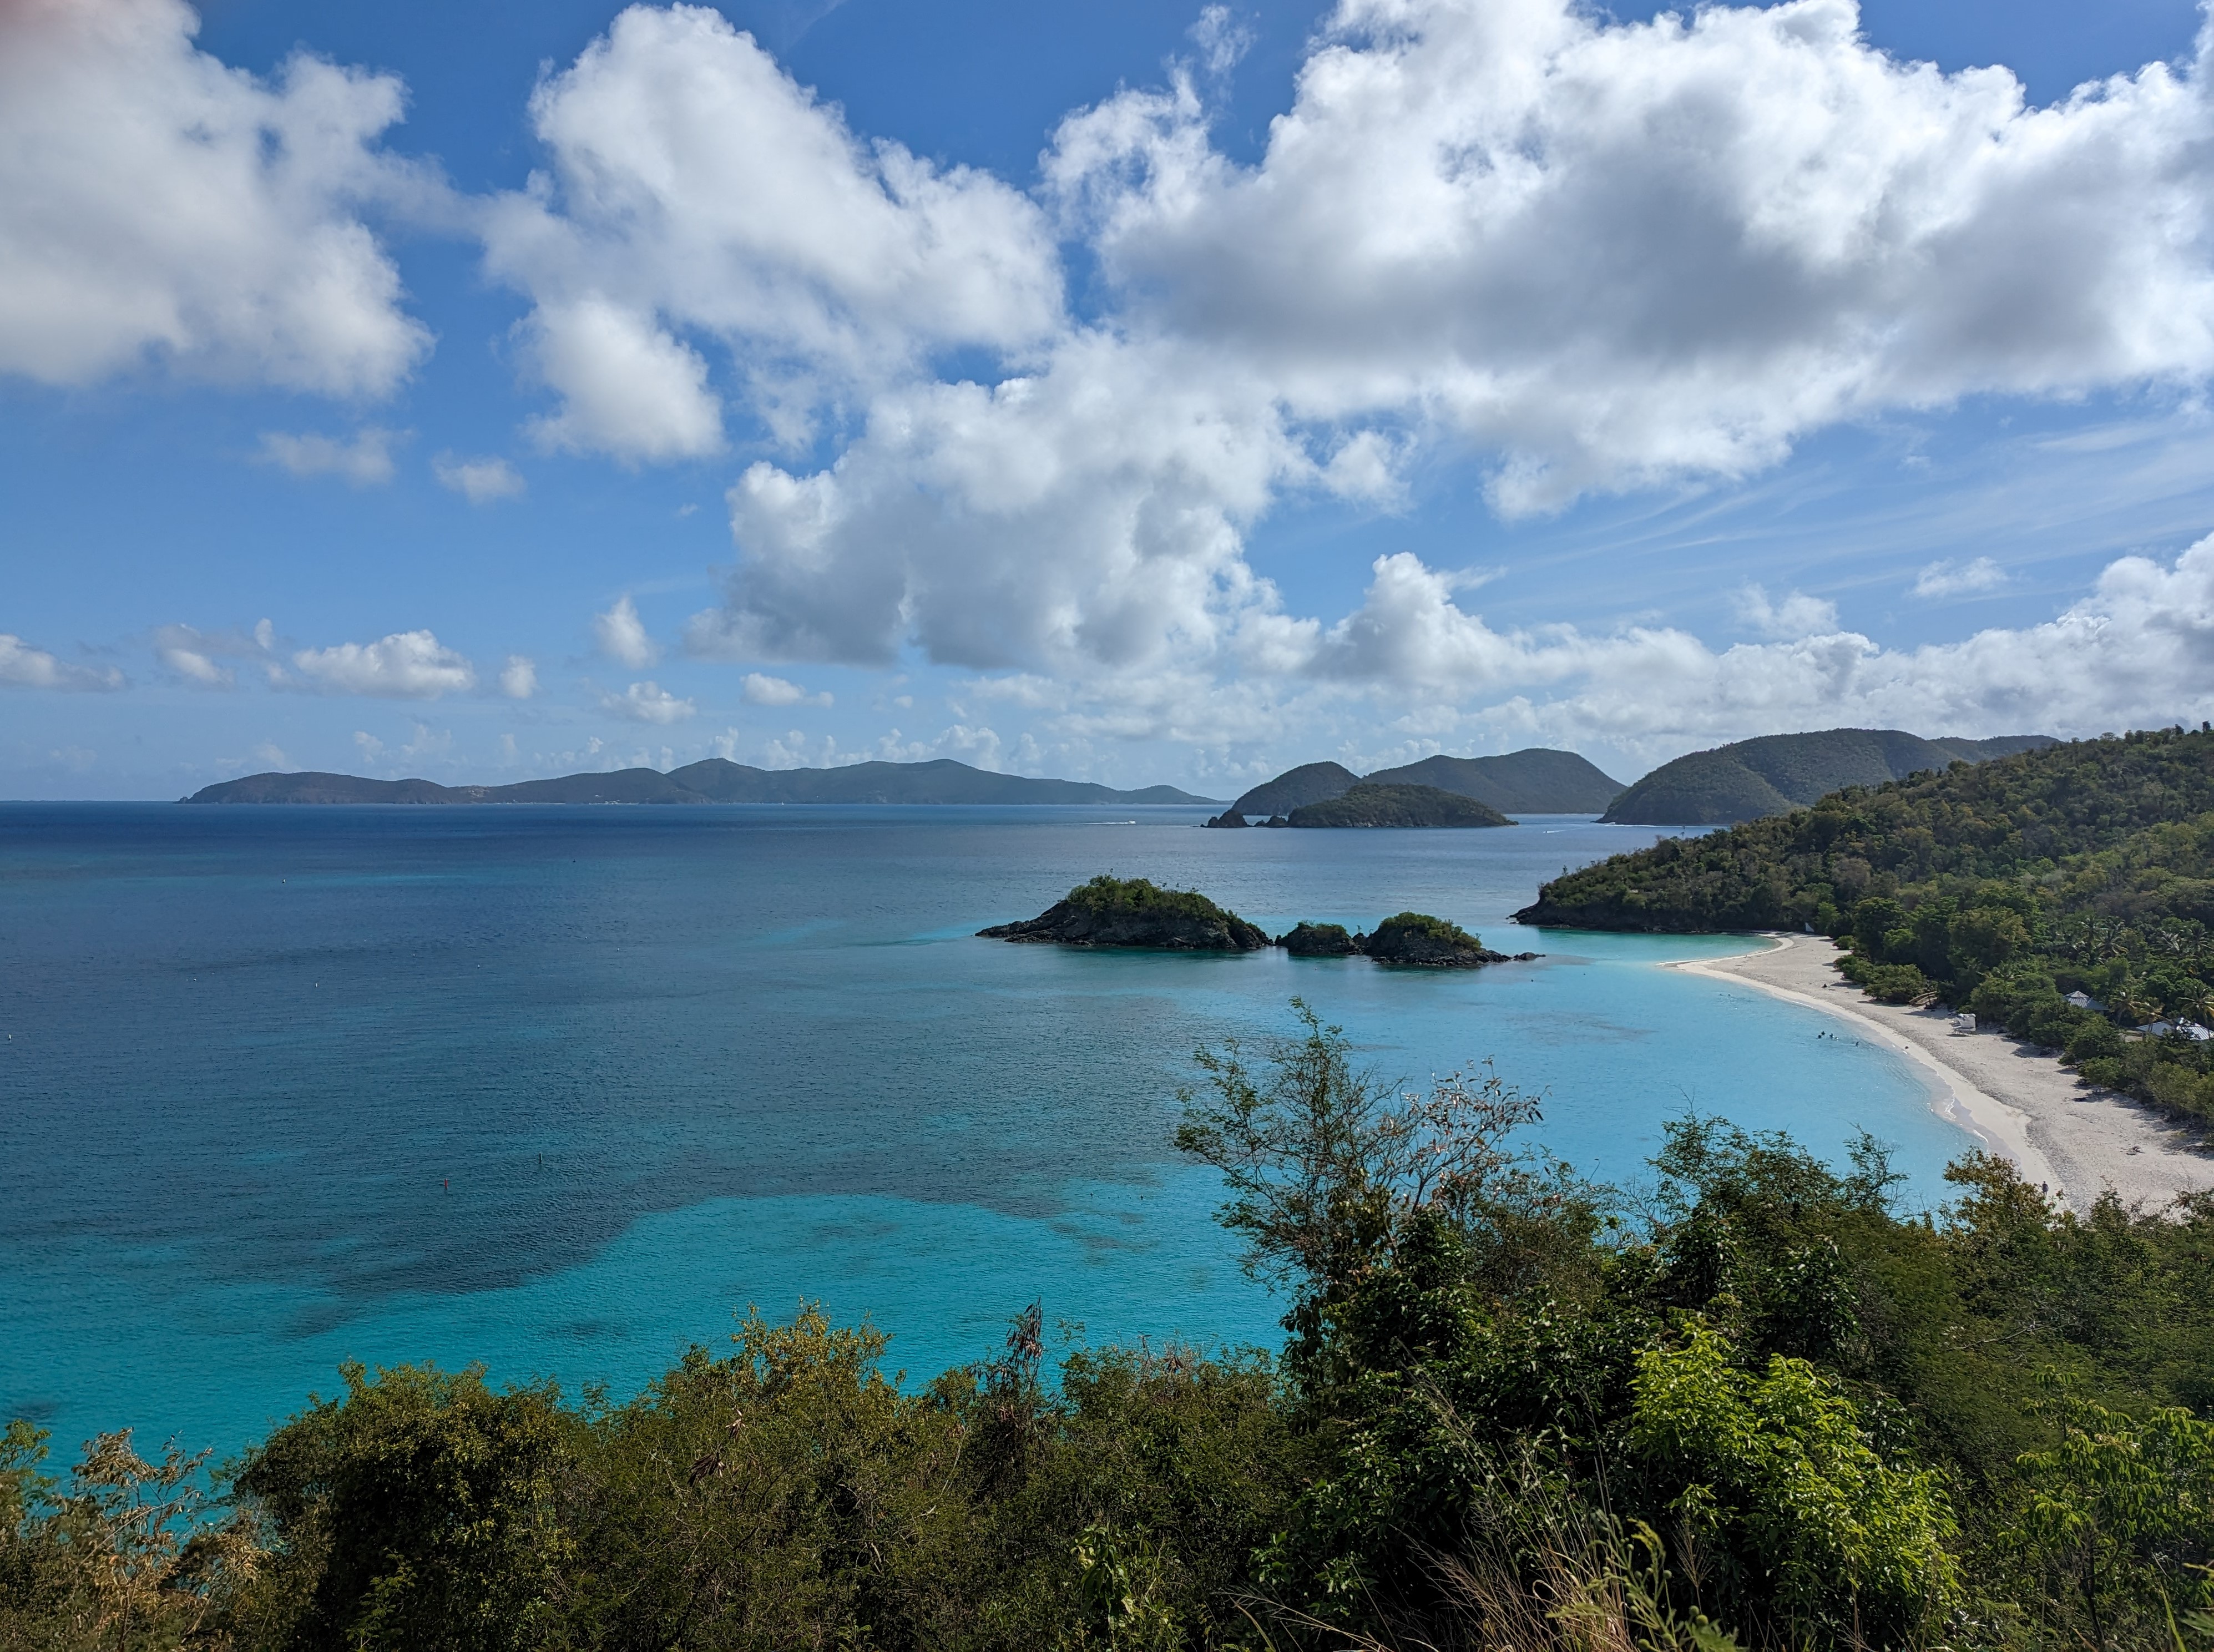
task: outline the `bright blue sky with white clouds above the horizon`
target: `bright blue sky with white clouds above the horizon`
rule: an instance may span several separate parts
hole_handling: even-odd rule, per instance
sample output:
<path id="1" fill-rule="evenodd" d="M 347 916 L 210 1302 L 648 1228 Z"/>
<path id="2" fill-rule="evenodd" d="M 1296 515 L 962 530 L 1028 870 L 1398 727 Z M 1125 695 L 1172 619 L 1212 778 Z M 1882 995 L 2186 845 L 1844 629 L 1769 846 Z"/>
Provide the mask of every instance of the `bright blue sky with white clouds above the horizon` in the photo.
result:
<path id="1" fill-rule="evenodd" d="M 0 0 L 0 797 L 2214 717 L 2203 24 Z"/>

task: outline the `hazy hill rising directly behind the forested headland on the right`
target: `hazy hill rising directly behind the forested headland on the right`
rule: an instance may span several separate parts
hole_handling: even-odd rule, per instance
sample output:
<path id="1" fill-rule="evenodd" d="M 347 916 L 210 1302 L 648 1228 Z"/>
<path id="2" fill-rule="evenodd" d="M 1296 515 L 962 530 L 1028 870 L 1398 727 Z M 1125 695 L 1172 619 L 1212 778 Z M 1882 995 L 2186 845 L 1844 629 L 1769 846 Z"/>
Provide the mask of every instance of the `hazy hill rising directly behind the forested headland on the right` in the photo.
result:
<path id="1" fill-rule="evenodd" d="M 1988 762 L 2059 744 L 2050 735 L 1924 740 L 1902 729 L 1760 735 L 1665 762 L 1607 804 L 1618 826 L 1736 826 L 1807 808 L 1840 786 L 1882 786 L 1955 762 Z"/>

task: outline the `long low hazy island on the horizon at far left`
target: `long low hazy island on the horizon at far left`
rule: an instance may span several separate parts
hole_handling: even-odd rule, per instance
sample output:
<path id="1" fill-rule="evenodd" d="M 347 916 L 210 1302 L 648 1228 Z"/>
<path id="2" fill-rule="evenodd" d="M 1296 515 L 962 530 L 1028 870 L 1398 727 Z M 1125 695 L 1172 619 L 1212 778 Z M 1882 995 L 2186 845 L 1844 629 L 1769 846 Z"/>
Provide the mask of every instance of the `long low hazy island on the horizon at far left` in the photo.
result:
<path id="1" fill-rule="evenodd" d="M 246 775 L 201 786 L 186 804 L 1213 804 L 1176 786 L 1116 791 L 1089 779 L 1032 779 L 939 757 L 846 768 L 751 768 L 708 757 L 671 768 L 520 779 L 511 786 L 441 786 L 432 779 L 359 775 Z"/>

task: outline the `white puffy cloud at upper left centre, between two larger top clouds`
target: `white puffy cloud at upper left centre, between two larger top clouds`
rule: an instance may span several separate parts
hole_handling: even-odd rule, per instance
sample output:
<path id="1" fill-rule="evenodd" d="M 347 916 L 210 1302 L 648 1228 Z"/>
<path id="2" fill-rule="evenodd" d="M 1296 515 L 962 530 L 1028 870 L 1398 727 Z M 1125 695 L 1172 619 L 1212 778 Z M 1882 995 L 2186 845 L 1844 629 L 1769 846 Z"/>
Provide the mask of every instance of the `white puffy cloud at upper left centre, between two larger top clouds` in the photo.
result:
<path id="1" fill-rule="evenodd" d="M 722 445 L 708 363 L 742 352 L 784 436 L 850 383 L 1061 321 L 1045 215 L 970 168 L 859 142 L 706 7 L 631 7 L 531 97 L 554 171 L 503 197 L 489 268 L 534 301 L 540 434 L 629 461 Z"/>

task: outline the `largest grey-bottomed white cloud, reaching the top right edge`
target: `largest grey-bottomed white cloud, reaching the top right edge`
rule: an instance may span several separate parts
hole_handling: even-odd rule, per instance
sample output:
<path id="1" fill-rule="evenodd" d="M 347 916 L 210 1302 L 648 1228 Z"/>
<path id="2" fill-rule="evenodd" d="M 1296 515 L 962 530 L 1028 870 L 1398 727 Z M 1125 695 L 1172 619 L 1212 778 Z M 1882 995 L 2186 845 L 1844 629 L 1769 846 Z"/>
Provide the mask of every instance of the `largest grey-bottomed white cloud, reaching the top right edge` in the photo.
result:
<path id="1" fill-rule="evenodd" d="M 1255 166 L 1189 89 L 1125 91 L 1047 177 L 1134 326 L 1304 416 L 1419 410 L 1537 509 L 1875 407 L 2203 376 L 2207 133 L 2203 66 L 2028 109 L 1851 0 L 1344 0 Z"/>

